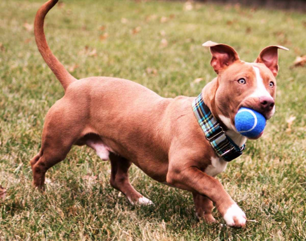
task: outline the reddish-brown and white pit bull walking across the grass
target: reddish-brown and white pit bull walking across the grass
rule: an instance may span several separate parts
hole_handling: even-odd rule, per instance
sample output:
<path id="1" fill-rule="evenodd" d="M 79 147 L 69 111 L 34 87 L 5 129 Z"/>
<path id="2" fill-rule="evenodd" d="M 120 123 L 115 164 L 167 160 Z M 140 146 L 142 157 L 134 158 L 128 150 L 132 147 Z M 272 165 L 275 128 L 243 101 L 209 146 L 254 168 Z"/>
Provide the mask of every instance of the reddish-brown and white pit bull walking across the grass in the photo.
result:
<path id="1" fill-rule="evenodd" d="M 162 98 L 132 81 L 111 77 L 71 76 L 47 45 L 43 23 L 58 2 L 50 0 L 37 12 L 35 38 L 39 52 L 61 82 L 65 95 L 48 111 L 39 153 L 31 160 L 33 183 L 43 187 L 46 171 L 65 159 L 72 145 L 88 145 L 110 160 L 110 184 L 132 204 L 152 202 L 129 183 L 132 163 L 156 181 L 192 192 L 196 215 L 215 222 L 213 203 L 232 227 L 243 227 L 244 212 L 214 178 L 227 162 L 218 158 L 195 114 L 195 97 Z M 254 63 L 239 59 L 225 44 L 208 41 L 211 66 L 218 76 L 202 90 L 203 100 L 226 134 L 241 146 L 234 116 L 250 107 L 266 119 L 274 114 L 278 48 L 263 49 Z"/>

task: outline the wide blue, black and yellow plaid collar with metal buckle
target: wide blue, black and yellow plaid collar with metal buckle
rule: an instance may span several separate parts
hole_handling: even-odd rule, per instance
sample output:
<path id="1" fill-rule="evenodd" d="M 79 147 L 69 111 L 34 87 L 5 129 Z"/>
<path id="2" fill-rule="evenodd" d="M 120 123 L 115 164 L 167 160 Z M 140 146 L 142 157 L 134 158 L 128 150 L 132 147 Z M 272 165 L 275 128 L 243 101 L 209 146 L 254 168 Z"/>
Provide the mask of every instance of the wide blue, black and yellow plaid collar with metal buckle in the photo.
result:
<path id="1" fill-rule="evenodd" d="M 231 161 L 242 154 L 245 148 L 243 144 L 239 147 L 226 135 L 225 131 L 219 125 L 217 119 L 212 115 L 210 109 L 204 103 L 202 93 L 192 102 L 192 110 L 198 120 L 206 139 L 219 158 Z"/>

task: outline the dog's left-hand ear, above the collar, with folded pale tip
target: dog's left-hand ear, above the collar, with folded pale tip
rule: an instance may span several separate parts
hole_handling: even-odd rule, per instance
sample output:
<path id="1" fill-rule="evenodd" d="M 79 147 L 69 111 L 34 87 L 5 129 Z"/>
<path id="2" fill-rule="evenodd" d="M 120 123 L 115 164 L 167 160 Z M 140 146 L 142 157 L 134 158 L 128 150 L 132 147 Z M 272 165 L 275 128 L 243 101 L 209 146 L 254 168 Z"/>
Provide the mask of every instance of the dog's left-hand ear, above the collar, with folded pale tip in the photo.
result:
<path id="1" fill-rule="evenodd" d="M 239 60 L 237 52 L 230 46 L 222 43 L 214 43 L 207 41 L 202 46 L 209 47 L 211 51 L 211 66 L 214 68 L 216 73 L 219 70 L 230 66 L 233 62 Z"/>

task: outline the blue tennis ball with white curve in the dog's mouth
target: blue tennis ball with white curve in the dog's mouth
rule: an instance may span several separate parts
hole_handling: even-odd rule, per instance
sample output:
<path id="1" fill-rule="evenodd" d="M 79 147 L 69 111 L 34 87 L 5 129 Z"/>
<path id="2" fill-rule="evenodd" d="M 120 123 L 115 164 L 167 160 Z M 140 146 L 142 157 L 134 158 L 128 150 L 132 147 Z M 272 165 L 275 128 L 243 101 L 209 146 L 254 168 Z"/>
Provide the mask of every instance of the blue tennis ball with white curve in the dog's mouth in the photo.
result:
<path id="1" fill-rule="evenodd" d="M 237 131 L 246 137 L 258 137 L 266 126 L 266 118 L 257 111 L 242 107 L 235 116 Z"/>

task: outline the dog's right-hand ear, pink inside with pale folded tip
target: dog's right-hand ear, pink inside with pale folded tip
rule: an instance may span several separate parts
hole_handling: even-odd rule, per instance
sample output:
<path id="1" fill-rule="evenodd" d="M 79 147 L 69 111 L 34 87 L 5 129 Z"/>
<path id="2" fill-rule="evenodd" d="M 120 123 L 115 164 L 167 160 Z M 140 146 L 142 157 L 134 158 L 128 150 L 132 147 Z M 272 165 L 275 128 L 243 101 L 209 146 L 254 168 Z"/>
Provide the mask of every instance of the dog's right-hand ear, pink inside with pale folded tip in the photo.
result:
<path id="1" fill-rule="evenodd" d="M 271 72 L 273 73 L 274 77 L 277 76 L 278 72 L 278 49 L 289 50 L 283 46 L 271 45 L 265 47 L 256 58 L 256 63 L 263 63 L 267 66 Z"/>

